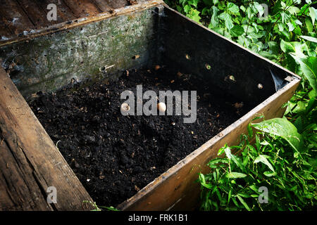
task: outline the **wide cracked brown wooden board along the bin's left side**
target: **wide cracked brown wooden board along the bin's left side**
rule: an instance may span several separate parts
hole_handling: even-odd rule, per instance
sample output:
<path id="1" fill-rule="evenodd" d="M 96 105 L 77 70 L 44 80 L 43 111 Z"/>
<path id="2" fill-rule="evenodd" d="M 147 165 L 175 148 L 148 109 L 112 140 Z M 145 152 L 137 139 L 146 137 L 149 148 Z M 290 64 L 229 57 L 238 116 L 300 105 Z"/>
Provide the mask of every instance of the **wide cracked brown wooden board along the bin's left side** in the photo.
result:
<path id="1" fill-rule="evenodd" d="M 2 68 L 0 131 L 0 210 L 87 210 L 92 199 Z"/>

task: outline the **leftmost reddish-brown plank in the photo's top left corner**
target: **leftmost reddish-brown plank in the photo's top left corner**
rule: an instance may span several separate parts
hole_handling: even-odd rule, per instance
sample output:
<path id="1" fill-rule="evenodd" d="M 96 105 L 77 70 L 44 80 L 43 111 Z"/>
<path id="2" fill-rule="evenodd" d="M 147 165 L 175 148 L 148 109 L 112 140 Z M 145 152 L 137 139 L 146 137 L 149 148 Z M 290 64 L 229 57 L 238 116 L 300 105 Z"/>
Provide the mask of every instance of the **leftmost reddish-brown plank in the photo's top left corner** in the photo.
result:
<path id="1" fill-rule="evenodd" d="M 0 0 L 0 6 L 0 15 L 3 17 L 3 22 L 13 34 L 20 34 L 25 30 L 35 28 L 16 1 Z"/>

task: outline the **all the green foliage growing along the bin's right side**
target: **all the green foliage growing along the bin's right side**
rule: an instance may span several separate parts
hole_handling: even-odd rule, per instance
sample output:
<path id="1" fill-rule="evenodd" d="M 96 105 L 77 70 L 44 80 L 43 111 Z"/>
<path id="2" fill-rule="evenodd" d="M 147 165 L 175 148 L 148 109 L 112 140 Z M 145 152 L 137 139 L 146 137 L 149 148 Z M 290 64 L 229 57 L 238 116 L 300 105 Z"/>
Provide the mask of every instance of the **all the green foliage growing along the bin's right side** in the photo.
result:
<path id="1" fill-rule="evenodd" d="M 316 203 L 317 1 L 166 0 L 197 23 L 236 41 L 302 77 L 287 103 L 288 120 L 250 124 L 256 144 L 225 146 L 226 158 L 211 160 L 200 174 L 204 210 L 302 210 Z M 263 4 L 268 6 L 268 12 Z M 252 136 L 249 129 L 249 136 Z M 261 141 L 260 137 L 262 138 Z M 240 150 L 242 155 L 232 155 Z M 256 201 L 268 186 L 271 202 Z"/>

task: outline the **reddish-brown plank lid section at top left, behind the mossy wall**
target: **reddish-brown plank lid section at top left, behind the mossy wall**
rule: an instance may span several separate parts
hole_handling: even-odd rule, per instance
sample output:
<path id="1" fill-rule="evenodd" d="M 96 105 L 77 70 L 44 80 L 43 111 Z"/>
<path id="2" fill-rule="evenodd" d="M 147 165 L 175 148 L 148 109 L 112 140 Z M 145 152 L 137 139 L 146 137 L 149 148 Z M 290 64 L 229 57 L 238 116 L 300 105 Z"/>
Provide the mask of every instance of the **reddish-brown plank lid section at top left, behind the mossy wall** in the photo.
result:
<path id="1" fill-rule="evenodd" d="M 6 35 L 3 36 L 5 39 L 1 39 L 0 36 L 0 46 L 7 46 L 26 40 L 29 41 L 35 37 L 42 37 L 61 30 L 69 30 L 89 23 L 96 23 L 113 16 L 142 11 L 146 8 L 163 4 L 163 0 L 139 0 L 138 4 L 133 4 L 131 6 L 127 6 L 128 1 L 126 0 L 52 0 L 51 3 L 57 1 L 57 21 L 51 21 L 51 25 L 45 23 L 42 26 L 37 26 L 29 19 L 32 18 L 32 16 L 35 17 L 35 15 L 31 16 L 25 13 L 23 8 L 21 8 L 19 4 L 16 4 L 15 1 L 25 0 L 0 0 L 0 2 L 3 2 L 3 10 L 0 8 L 0 15 L 4 15 L 2 16 L 1 22 L 8 26 L 7 31 L 4 32 Z M 37 0 L 36 2 L 36 5 L 39 8 L 33 9 L 33 11 L 42 11 L 42 15 L 37 16 L 41 16 L 42 18 L 45 17 L 46 20 L 46 13 L 48 13 L 48 10 L 46 9 L 47 5 L 44 4 L 44 2 L 50 1 Z M 3 13 L 2 11 L 6 13 Z M 14 20 L 15 23 L 11 23 L 17 16 L 19 20 Z"/>

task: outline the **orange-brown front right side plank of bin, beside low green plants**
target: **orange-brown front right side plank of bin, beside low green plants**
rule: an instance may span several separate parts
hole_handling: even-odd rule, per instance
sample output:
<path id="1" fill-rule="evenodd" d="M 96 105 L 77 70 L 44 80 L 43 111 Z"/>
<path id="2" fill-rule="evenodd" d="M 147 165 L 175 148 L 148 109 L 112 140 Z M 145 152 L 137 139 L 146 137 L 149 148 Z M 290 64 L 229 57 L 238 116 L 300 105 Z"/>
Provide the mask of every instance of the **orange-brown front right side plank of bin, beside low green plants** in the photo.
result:
<path id="1" fill-rule="evenodd" d="M 247 134 L 247 124 L 255 115 L 265 118 L 281 117 L 285 108 L 281 106 L 287 102 L 299 85 L 299 79 L 294 80 L 273 94 L 266 101 L 256 106 L 247 115 L 221 131 L 203 146 L 188 155 L 177 165 L 161 174 L 151 184 L 139 191 L 135 196 L 118 206 L 120 210 L 194 210 L 199 203 L 199 172 L 209 172 L 206 166 L 209 160 L 216 158 L 219 148 L 225 143 L 236 145 L 240 134 Z M 256 122 L 256 121 L 255 121 Z"/>

